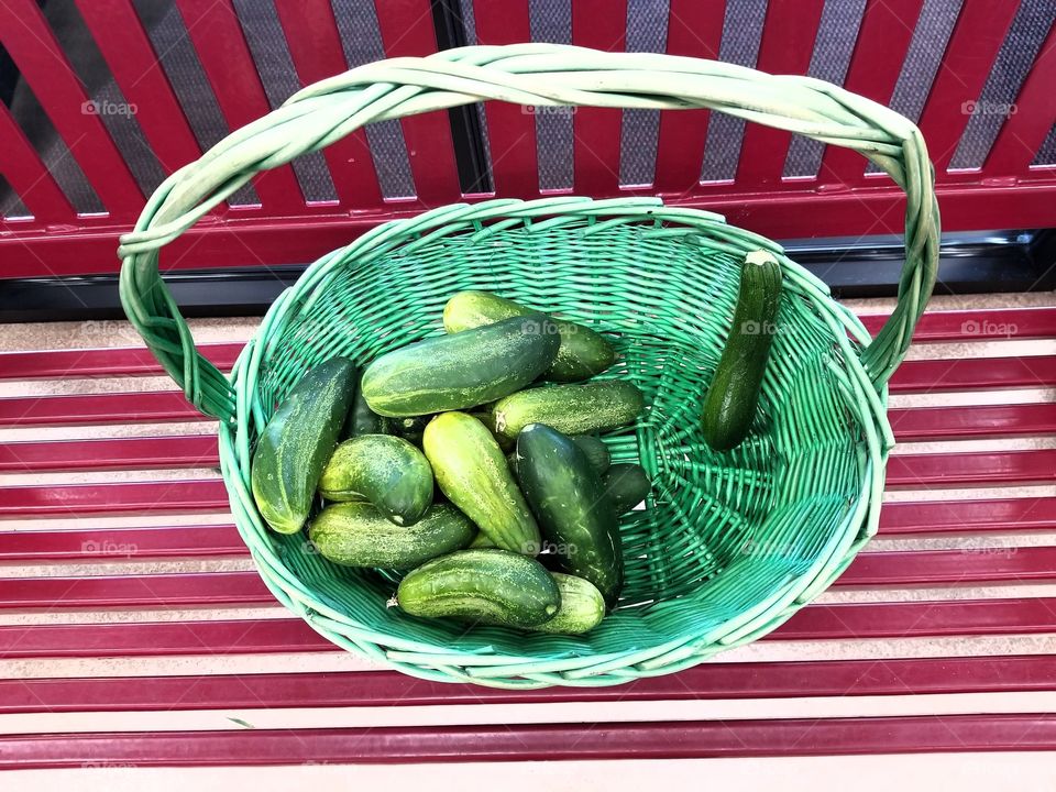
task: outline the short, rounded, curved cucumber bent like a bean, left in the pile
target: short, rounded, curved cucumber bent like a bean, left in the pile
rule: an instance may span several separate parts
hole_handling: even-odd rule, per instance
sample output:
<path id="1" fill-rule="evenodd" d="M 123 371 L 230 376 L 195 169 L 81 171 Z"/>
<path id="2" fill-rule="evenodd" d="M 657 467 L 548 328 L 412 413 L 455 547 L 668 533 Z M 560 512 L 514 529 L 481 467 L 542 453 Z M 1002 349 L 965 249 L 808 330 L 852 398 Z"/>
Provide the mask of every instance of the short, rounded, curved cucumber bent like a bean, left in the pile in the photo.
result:
<path id="1" fill-rule="evenodd" d="M 414 525 L 432 503 L 432 468 L 403 438 L 361 435 L 338 446 L 319 479 L 327 501 L 369 501 L 396 525 Z"/>

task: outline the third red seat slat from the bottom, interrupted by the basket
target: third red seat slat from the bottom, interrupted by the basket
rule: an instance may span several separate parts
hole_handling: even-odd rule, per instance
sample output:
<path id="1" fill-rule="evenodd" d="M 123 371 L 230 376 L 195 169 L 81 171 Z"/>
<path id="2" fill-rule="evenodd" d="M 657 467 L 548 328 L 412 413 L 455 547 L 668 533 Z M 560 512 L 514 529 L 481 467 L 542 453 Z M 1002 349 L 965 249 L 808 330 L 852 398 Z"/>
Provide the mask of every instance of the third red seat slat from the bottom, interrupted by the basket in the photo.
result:
<path id="1" fill-rule="evenodd" d="M 807 605 L 763 640 L 1056 632 L 1056 597 Z M 316 652 L 339 649 L 299 618 L 0 625 L 0 659 Z"/>

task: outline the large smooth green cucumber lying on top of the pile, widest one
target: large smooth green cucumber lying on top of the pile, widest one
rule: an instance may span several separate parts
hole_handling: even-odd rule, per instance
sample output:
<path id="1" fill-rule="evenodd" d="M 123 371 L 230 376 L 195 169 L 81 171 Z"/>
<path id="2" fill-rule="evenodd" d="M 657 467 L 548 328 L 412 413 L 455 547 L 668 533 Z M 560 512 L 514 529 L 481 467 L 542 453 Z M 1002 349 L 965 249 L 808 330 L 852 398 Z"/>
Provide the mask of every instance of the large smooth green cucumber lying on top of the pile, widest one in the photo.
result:
<path id="1" fill-rule="evenodd" d="M 371 409 L 394 418 L 475 407 L 519 391 L 550 367 L 560 338 L 542 314 L 382 355 L 363 372 Z"/>

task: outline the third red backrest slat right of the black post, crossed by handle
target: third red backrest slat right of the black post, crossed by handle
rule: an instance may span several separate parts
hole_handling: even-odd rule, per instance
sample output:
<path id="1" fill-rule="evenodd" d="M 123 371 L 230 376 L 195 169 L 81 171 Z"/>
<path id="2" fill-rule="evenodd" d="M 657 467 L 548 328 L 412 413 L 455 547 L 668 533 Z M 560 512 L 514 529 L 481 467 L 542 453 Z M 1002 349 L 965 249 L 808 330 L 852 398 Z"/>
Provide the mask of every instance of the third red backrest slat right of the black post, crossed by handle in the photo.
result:
<path id="1" fill-rule="evenodd" d="M 718 58 L 725 19 L 725 0 L 671 0 L 668 54 Z M 654 190 L 684 194 L 700 184 L 710 118 L 707 110 L 660 112 Z"/>

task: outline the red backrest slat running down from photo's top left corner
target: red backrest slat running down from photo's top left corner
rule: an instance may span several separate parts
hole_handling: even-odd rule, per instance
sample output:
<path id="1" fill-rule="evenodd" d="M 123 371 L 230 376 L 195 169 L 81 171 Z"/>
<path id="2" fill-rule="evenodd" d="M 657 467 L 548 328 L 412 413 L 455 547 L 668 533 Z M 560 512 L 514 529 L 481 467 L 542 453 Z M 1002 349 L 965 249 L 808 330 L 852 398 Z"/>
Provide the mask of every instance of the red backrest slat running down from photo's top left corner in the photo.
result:
<path id="1" fill-rule="evenodd" d="M 34 0 L 0 3 L 0 42 L 102 205 L 116 218 L 134 218 L 143 194 L 99 116 L 86 112 L 89 97 Z"/>

